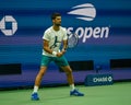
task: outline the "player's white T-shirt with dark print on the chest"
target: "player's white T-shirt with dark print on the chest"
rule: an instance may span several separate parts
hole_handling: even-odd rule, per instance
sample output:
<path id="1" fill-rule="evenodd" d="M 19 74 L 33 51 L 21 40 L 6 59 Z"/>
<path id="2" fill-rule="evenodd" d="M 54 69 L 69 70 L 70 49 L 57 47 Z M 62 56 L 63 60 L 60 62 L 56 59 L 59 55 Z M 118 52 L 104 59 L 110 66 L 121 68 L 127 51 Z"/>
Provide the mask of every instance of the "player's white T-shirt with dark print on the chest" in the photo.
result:
<path id="1" fill-rule="evenodd" d="M 62 40 L 66 40 L 67 38 L 68 38 L 67 30 L 62 26 L 60 26 L 59 31 L 55 31 L 51 26 L 45 31 L 43 36 L 43 39 L 46 39 L 49 42 L 50 49 L 57 52 L 60 51 Z M 43 55 L 53 57 L 53 55 L 45 51 L 44 49 L 43 49 Z"/>

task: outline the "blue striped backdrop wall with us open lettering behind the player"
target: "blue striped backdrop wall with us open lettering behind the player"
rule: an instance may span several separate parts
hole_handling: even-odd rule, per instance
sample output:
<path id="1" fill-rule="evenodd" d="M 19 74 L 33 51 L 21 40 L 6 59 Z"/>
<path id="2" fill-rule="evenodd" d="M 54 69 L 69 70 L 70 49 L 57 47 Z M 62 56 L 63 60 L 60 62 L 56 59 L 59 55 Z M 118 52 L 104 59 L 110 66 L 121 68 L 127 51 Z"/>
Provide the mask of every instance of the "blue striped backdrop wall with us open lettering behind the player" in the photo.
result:
<path id="1" fill-rule="evenodd" d="M 69 61 L 93 60 L 94 67 L 102 66 L 108 72 L 110 59 L 131 59 L 130 5 L 130 0 L 1 0 L 0 63 L 21 63 L 23 72 L 9 75 L 9 81 L 19 82 L 17 85 L 34 83 L 40 65 L 41 37 L 52 25 L 52 12 L 60 12 L 62 26 L 79 35 L 79 45 L 66 55 Z M 43 84 L 66 83 L 51 63 Z M 48 78 L 50 73 L 58 79 Z M 82 82 L 86 73 L 79 77 L 74 72 L 76 82 Z M 4 78 L 0 78 L 0 86 L 4 86 Z"/>

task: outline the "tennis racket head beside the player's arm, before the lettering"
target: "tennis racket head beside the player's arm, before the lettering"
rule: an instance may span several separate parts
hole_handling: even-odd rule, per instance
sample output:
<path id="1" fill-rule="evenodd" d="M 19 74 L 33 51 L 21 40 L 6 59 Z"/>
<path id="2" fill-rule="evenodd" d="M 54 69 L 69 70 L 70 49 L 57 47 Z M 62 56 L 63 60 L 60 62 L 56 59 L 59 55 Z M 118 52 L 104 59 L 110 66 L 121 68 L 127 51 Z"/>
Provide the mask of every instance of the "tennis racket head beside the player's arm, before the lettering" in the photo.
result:
<path id="1" fill-rule="evenodd" d="M 79 35 L 75 33 L 68 34 L 68 48 L 74 48 L 79 43 Z"/>

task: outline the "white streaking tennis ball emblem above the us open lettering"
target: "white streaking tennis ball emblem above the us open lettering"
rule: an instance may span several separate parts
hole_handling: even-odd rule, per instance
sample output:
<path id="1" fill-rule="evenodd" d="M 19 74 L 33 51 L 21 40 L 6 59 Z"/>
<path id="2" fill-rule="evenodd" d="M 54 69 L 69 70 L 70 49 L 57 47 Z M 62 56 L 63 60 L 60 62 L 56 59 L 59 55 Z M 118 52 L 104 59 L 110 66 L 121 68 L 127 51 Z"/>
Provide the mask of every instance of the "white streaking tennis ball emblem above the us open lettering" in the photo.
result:
<path id="1" fill-rule="evenodd" d="M 96 9 L 91 3 L 79 4 L 72 8 L 68 14 L 76 15 L 76 19 L 83 21 L 93 21 L 96 16 Z"/>

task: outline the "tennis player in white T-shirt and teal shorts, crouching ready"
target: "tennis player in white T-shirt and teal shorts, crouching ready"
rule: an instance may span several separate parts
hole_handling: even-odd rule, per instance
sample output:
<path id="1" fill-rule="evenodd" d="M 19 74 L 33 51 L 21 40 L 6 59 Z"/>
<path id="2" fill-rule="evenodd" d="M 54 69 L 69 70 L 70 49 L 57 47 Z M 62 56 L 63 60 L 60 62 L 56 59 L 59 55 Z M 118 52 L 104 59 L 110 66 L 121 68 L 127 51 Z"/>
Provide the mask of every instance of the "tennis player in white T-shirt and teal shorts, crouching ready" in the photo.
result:
<path id="1" fill-rule="evenodd" d="M 71 88 L 70 95 L 74 96 L 84 96 L 83 93 L 79 92 L 74 86 L 74 80 L 72 75 L 72 69 L 70 68 L 64 54 L 68 47 L 68 36 L 64 27 L 61 26 L 61 15 L 60 13 L 52 13 L 51 15 L 52 26 L 47 28 L 44 33 L 44 48 L 43 48 L 43 57 L 40 70 L 36 77 L 34 91 L 32 93 L 32 101 L 38 101 L 38 88 L 41 82 L 41 78 L 45 74 L 48 65 L 50 61 L 55 61 L 57 66 L 59 66 L 67 74 L 68 83 Z M 62 49 L 60 50 L 61 44 Z"/>

